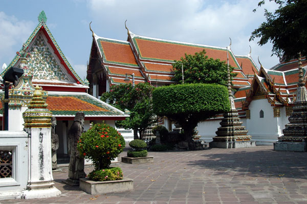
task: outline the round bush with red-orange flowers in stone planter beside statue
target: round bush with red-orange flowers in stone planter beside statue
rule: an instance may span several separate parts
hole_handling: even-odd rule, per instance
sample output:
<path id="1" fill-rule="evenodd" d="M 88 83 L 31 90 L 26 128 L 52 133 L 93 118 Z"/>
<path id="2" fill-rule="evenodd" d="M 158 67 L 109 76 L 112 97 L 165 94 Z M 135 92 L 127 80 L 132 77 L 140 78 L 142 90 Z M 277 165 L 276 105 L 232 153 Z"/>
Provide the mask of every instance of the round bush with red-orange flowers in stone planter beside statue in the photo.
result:
<path id="1" fill-rule="evenodd" d="M 124 147 L 125 140 L 122 135 L 107 124 L 95 124 L 82 133 L 77 148 L 82 156 L 93 161 L 95 169 L 87 175 L 86 179 L 80 179 L 80 188 L 87 193 L 95 194 L 100 192 L 93 193 L 92 187 L 89 190 L 89 184 L 92 186 L 103 184 L 101 182 L 104 181 L 122 180 L 122 170 L 119 167 L 110 167 L 110 165 Z M 93 183 L 93 181 L 100 183 Z M 109 192 L 114 192 L 112 189 L 109 190 L 111 190 Z"/>

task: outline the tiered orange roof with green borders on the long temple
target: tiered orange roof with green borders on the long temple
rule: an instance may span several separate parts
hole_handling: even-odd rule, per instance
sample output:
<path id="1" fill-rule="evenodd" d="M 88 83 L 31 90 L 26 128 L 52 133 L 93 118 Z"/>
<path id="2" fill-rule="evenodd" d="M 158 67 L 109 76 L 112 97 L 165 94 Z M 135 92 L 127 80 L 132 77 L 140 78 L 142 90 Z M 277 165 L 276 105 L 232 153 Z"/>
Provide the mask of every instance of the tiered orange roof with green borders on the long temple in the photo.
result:
<path id="1" fill-rule="evenodd" d="M 98 63 L 96 62 L 97 58 L 99 58 L 98 61 L 101 62 L 100 65 L 111 84 L 126 83 L 124 81 L 125 74 L 133 73 L 135 74 L 135 83 L 146 81 L 159 85 L 174 83 L 171 81 L 174 76 L 172 71 L 174 60 L 180 60 L 185 53 L 193 55 L 204 49 L 210 58 L 218 58 L 222 61 L 227 59 L 226 48 L 144 37 L 129 30 L 127 41 L 99 37 L 93 32 L 87 79 L 92 81 L 92 74 L 99 73 L 99 70 L 94 70 Z M 257 66 L 250 55 L 235 56 L 231 50 L 228 50 L 228 53 L 229 64 L 234 67 L 233 73 L 237 74 L 232 81 L 234 87 L 249 86 L 247 74 L 253 76 L 254 72 L 258 72 Z M 251 67 L 254 72 L 250 72 Z M 128 77 L 131 79 L 129 75 Z"/>

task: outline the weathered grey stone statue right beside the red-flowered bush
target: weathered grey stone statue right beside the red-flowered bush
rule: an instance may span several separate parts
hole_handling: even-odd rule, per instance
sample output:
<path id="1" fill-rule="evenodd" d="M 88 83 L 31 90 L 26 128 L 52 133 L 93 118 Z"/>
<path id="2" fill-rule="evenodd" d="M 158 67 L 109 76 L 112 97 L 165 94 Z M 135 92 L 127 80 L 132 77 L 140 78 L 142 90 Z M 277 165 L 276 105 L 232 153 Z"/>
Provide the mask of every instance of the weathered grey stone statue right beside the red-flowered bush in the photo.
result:
<path id="1" fill-rule="evenodd" d="M 78 140 L 83 132 L 84 112 L 77 112 L 74 123 L 68 131 L 68 153 L 70 154 L 68 181 L 76 185 L 79 184 L 79 178 L 85 177 L 84 158 L 80 157 L 77 150 Z"/>

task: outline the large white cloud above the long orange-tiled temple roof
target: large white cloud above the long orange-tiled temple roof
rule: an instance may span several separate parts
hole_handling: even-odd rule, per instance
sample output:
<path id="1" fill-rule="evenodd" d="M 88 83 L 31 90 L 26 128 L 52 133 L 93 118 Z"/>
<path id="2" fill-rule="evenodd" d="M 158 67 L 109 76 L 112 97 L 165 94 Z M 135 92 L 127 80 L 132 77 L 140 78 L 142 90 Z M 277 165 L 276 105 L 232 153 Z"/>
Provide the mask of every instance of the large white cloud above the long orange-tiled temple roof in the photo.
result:
<path id="1" fill-rule="evenodd" d="M 249 45 L 255 61 L 269 68 L 278 63 L 271 56 L 271 45 L 259 47 L 249 42 L 251 32 L 265 21 L 264 8 L 257 12 L 258 0 L 252 1 L 120 1 L 90 0 L 87 7 L 93 17 L 94 32 L 103 37 L 125 40 L 127 27 L 138 35 L 201 43 L 226 47 L 232 38 L 232 50 L 237 55 L 247 55 Z M 277 5 L 266 3 L 265 8 L 274 11 Z"/>

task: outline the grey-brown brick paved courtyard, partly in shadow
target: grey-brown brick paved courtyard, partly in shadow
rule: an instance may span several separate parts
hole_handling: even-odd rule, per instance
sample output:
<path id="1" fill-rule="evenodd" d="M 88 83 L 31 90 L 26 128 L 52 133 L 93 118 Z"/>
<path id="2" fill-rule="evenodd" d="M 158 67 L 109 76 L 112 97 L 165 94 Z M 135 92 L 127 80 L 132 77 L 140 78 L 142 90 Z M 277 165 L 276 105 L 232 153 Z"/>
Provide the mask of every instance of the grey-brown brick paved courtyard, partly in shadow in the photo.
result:
<path id="1" fill-rule="evenodd" d="M 121 156 L 125 156 L 124 151 Z M 53 173 L 61 196 L 1 203 L 307 203 L 305 152 L 248 149 L 148 152 L 153 163 L 118 164 L 134 190 L 89 195 L 62 184 L 68 169 Z M 86 172 L 92 170 L 85 168 Z"/>

